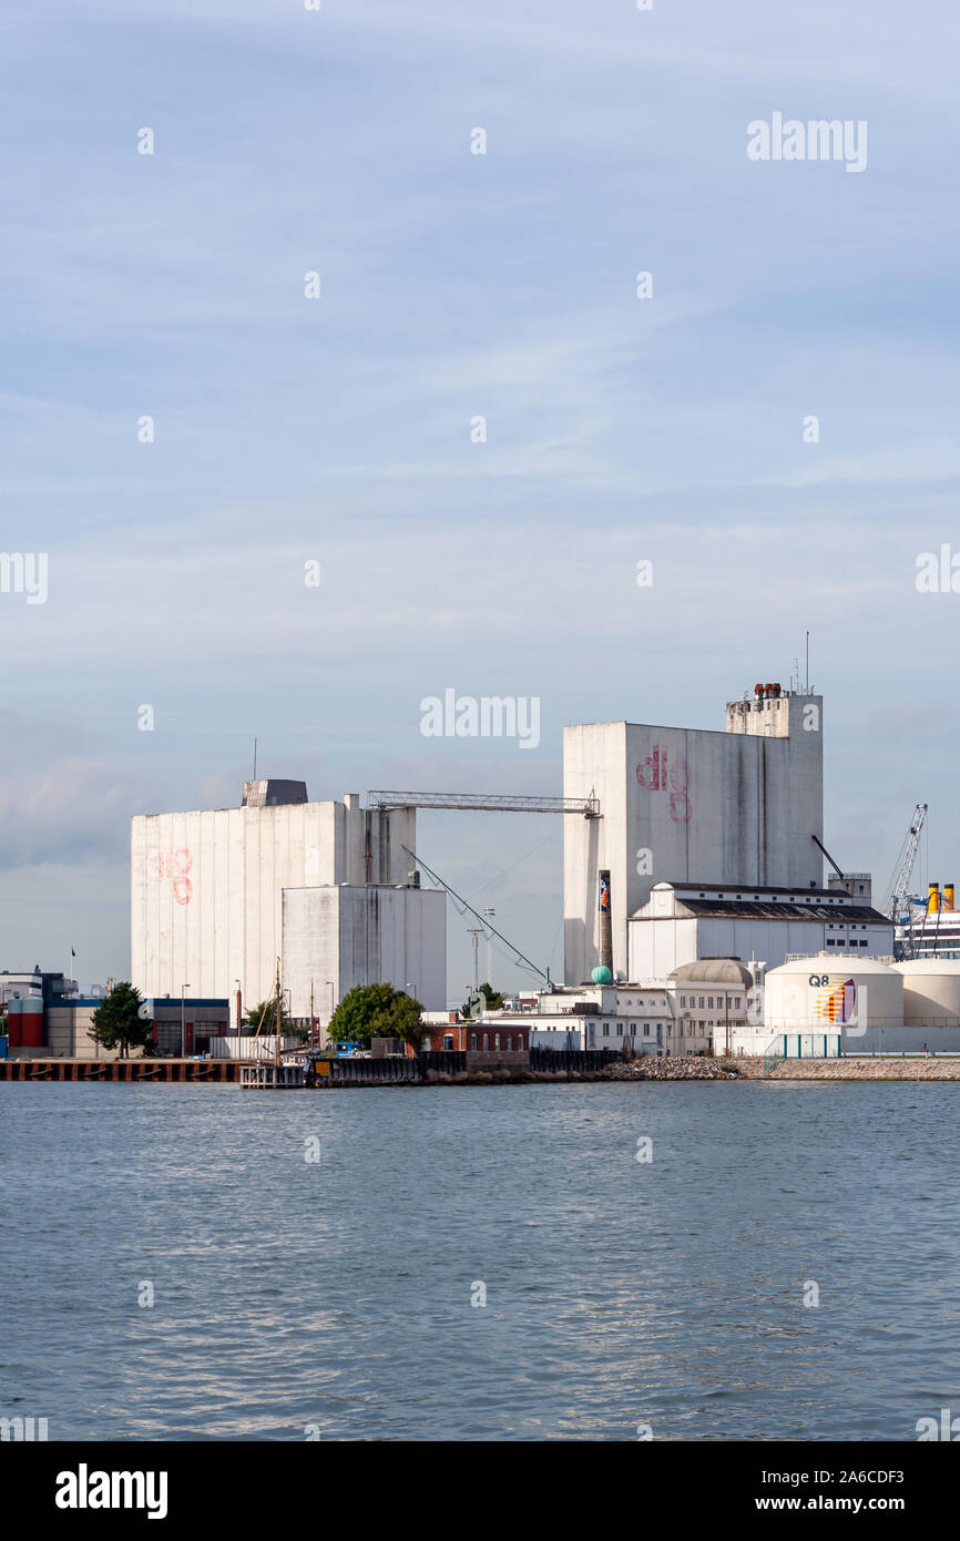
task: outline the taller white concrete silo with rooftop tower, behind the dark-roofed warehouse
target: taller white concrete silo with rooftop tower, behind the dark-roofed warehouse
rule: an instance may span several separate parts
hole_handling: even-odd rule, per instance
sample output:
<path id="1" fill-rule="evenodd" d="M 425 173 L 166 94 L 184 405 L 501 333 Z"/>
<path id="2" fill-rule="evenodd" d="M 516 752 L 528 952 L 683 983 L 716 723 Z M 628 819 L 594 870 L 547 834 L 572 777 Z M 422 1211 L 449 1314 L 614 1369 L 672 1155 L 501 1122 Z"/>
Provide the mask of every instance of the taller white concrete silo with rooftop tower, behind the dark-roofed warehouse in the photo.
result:
<path id="1" fill-rule="evenodd" d="M 564 821 L 567 983 L 596 965 L 627 977 L 627 920 L 653 883 L 820 888 L 823 698 L 758 686 L 724 732 L 566 727 L 564 797 L 590 794 L 599 817 Z"/>

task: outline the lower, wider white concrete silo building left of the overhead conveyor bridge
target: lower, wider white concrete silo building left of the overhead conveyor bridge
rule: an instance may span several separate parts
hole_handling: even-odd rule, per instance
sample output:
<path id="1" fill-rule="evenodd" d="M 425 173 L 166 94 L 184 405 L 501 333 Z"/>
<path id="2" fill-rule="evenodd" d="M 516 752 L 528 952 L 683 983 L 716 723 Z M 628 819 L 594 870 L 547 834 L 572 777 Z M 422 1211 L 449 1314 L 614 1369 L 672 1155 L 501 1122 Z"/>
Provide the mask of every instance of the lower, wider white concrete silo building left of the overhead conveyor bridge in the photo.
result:
<path id="1" fill-rule="evenodd" d="M 240 807 L 131 821 L 131 980 L 145 995 L 230 997 L 274 988 L 322 1023 L 353 985 L 416 985 L 445 1005 L 444 894 L 419 888 L 413 809 L 310 803 L 302 781 L 248 781 Z M 308 903 L 304 891 L 324 891 Z M 378 898 L 378 894 L 381 898 Z M 317 895 L 319 898 L 319 895 Z M 313 969 L 317 971 L 314 977 Z"/>

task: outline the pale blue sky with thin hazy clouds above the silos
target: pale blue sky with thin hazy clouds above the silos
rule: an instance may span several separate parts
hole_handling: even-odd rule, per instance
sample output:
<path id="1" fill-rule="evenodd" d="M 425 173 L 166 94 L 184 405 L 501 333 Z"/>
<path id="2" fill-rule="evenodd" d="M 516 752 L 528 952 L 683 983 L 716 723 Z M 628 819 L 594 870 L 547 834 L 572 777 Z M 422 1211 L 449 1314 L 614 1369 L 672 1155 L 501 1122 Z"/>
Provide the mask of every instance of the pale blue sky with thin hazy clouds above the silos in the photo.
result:
<path id="1" fill-rule="evenodd" d="M 129 817 L 239 803 L 254 737 L 319 800 L 558 795 L 564 723 L 721 729 L 807 629 L 827 848 L 881 892 L 926 801 L 960 881 L 960 596 L 917 589 L 958 45 L 940 0 L 8 0 L 0 544 L 48 581 L 0 592 L 0 968 L 123 977 Z M 866 168 L 750 160 L 775 112 Z M 424 737 L 445 689 L 538 698 L 538 747 Z M 418 826 L 555 977 L 561 821 Z"/>

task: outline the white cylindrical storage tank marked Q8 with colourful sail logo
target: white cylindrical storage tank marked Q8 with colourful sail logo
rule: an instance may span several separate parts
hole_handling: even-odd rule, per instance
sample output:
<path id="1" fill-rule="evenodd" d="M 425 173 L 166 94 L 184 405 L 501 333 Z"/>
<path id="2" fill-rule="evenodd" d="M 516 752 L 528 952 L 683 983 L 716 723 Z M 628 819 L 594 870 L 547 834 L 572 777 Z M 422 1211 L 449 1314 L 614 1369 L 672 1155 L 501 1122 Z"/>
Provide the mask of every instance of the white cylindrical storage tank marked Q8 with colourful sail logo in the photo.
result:
<path id="1" fill-rule="evenodd" d="M 772 1032 L 838 1032 L 903 1026 L 903 977 L 872 959 L 820 952 L 769 969 L 764 1026 Z"/>

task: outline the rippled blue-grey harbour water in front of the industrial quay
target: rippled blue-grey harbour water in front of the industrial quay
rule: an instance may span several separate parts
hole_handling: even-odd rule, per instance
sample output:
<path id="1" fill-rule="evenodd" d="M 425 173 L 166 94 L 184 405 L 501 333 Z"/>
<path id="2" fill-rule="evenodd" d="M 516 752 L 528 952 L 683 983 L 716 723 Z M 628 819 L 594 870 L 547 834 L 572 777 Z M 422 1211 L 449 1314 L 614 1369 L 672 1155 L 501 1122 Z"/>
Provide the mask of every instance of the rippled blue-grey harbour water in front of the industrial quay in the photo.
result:
<path id="1" fill-rule="evenodd" d="M 0 1085 L 0 1415 L 911 1441 L 960 1413 L 958 1116 L 949 1083 Z"/>

